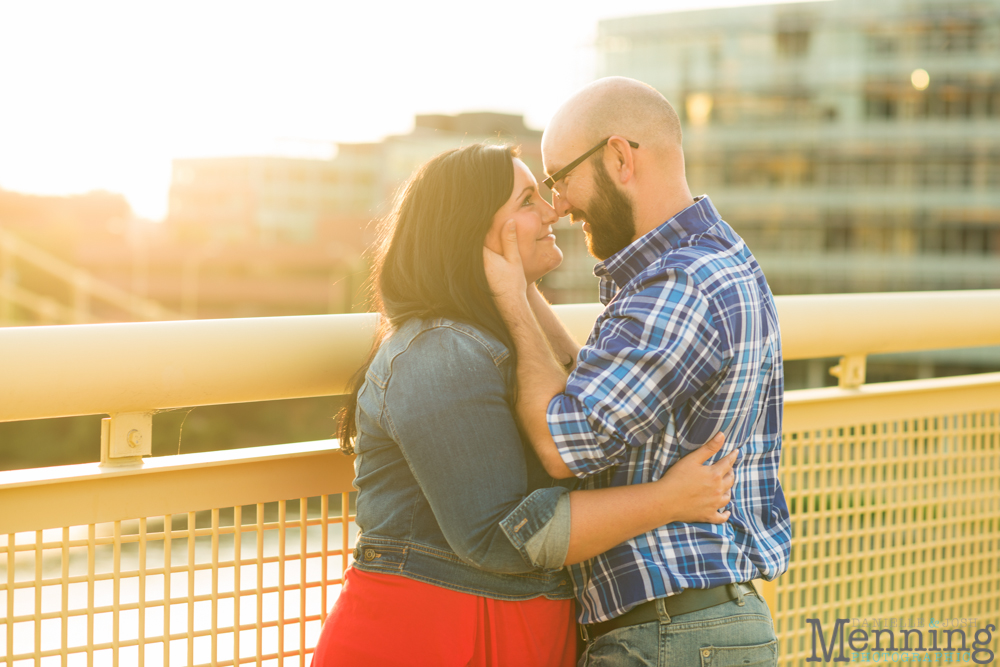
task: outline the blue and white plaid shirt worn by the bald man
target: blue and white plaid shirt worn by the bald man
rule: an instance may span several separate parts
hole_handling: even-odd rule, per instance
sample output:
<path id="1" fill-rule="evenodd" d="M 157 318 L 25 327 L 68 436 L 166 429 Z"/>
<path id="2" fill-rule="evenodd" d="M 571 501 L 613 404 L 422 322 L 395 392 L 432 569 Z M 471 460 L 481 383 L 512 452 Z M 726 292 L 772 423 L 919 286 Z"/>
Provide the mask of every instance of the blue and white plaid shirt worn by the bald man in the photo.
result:
<path id="1" fill-rule="evenodd" d="M 570 567 L 580 622 L 686 588 L 788 568 L 781 484 L 784 380 L 774 299 L 743 240 L 708 197 L 594 268 L 606 306 L 580 350 L 549 430 L 566 465 L 599 489 L 659 479 L 726 434 L 737 445 L 727 523 L 672 523 Z"/>

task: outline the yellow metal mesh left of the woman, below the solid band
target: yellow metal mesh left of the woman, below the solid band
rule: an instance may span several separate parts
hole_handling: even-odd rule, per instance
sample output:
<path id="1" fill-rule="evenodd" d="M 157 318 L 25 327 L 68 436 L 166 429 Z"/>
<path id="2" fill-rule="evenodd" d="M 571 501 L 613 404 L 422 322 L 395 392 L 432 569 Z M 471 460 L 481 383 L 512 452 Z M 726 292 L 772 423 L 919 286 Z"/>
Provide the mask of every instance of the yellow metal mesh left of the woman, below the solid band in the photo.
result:
<path id="1" fill-rule="evenodd" d="M 350 499 L 0 535 L 0 656 L 6 665 L 306 665 L 351 560 Z"/>

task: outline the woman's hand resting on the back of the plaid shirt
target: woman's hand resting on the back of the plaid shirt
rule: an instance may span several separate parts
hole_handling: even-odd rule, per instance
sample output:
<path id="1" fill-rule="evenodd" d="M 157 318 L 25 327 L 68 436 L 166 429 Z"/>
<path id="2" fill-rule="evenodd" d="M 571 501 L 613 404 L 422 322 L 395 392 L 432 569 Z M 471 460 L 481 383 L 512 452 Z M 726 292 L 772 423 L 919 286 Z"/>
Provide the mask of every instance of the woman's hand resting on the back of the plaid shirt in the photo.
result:
<path id="1" fill-rule="evenodd" d="M 724 444 L 725 436 L 720 433 L 675 463 L 654 482 L 669 489 L 674 521 L 718 524 L 729 519 L 730 512 L 719 510 L 732 500 L 730 492 L 736 482 L 733 464 L 739 450 L 730 452 L 710 466 L 705 465 L 705 461 L 718 453 Z"/>

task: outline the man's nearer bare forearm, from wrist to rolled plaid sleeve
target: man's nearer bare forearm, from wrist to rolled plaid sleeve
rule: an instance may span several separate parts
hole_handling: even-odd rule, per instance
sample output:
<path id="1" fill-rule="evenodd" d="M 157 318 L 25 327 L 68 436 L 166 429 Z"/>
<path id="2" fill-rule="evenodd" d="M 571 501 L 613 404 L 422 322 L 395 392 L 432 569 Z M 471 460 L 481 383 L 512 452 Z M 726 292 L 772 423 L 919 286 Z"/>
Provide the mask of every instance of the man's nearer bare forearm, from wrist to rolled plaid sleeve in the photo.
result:
<path id="1" fill-rule="evenodd" d="M 517 347 L 517 414 L 521 426 L 549 475 L 572 477 L 545 416 L 549 402 L 566 388 L 566 371 L 549 349 L 527 296 L 498 299 L 498 305 Z"/>

